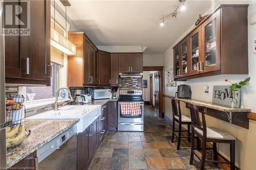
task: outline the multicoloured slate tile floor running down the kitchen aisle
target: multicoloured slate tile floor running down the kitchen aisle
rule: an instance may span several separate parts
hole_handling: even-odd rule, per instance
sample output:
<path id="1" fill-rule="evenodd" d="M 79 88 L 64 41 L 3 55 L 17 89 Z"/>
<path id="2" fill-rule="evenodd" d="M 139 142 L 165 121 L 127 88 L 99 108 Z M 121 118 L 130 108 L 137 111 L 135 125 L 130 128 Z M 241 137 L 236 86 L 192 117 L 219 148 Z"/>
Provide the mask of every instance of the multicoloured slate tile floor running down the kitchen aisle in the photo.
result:
<path id="1" fill-rule="evenodd" d="M 145 105 L 144 132 L 107 132 L 101 142 L 90 169 L 199 169 L 195 158 L 189 165 L 190 143 L 171 143 L 172 129 L 155 109 Z M 221 169 L 207 163 L 205 169 Z"/>

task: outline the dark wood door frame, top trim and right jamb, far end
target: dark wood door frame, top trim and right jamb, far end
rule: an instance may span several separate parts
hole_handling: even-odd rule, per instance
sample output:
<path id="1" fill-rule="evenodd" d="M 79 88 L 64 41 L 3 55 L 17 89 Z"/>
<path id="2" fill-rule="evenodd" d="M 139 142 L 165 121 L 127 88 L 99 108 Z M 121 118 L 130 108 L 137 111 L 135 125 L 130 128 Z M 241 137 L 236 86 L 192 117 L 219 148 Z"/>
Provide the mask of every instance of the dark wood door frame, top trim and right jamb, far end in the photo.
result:
<path id="1" fill-rule="evenodd" d="M 164 103 L 163 103 L 163 66 L 143 66 L 143 71 L 159 71 L 159 116 L 164 117 Z"/>

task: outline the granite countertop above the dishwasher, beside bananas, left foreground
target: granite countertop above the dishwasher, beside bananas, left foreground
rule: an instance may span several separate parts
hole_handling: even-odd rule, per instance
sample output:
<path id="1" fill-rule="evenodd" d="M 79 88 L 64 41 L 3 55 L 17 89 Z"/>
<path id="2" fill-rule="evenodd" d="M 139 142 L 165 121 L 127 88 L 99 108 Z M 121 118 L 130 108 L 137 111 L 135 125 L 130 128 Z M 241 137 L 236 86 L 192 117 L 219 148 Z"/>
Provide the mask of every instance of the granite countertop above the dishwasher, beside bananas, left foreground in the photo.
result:
<path id="1" fill-rule="evenodd" d="M 25 120 L 25 128 L 31 130 L 31 134 L 17 147 L 7 149 L 7 167 L 19 162 L 78 122 L 78 119 Z"/>

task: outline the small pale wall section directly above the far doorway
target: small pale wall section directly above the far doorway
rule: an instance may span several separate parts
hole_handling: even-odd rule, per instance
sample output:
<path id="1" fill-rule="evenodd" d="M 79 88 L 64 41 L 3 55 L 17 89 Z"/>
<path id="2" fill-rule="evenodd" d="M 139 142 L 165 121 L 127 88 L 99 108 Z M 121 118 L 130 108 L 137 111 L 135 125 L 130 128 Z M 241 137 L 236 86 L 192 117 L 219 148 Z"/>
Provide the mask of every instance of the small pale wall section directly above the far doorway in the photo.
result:
<path id="1" fill-rule="evenodd" d="M 143 66 L 163 66 L 162 54 L 144 54 Z"/>

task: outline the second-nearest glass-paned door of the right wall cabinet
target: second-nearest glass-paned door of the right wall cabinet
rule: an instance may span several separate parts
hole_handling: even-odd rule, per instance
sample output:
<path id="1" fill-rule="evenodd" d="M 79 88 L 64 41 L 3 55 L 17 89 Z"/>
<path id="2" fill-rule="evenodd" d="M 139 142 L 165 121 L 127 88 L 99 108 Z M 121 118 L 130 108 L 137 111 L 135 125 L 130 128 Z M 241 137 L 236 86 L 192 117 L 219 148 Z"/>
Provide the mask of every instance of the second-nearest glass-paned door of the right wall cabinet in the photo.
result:
<path id="1" fill-rule="evenodd" d="M 198 27 L 190 35 L 190 71 L 191 75 L 200 73 L 200 62 L 202 61 L 202 45 L 201 45 L 201 27 Z"/>

